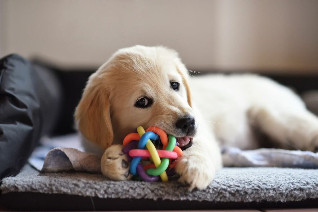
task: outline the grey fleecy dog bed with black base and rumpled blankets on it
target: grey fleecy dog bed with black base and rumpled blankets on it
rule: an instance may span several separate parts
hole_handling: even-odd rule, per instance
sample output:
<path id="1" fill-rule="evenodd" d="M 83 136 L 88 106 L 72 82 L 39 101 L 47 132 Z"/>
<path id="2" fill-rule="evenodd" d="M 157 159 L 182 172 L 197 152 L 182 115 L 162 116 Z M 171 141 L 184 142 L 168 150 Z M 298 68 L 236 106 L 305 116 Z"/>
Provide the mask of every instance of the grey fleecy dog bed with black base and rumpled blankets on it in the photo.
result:
<path id="1" fill-rule="evenodd" d="M 298 203 L 302 207 L 318 204 L 318 155 L 311 152 L 227 148 L 222 152 L 227 166 L 265 167 L 223 168 L 207 189 L 189 192 L 176 179 L 167 183 L 108 180 L 100 174 L 100 158 L 81 152 L 77 134 L 43 138 L 40 143 L 20 174 L 3 179 L 2 204 L 11 209 L 214 209 L 279 207 L 287 202 L 288 206 Z M 266 167 L 274 165 L 285 168 Z M 297 166 L 301 168 L 287 168 Z M 30 204 L 34 198 L 37 201 Z"/>

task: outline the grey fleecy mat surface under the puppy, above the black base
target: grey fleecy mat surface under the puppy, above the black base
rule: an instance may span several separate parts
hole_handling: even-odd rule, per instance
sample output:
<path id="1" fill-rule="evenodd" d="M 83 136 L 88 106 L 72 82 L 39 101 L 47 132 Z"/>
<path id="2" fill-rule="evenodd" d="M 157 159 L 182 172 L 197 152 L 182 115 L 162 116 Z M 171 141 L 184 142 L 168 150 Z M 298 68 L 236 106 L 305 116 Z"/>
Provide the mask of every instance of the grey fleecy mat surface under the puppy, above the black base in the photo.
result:
<path id="1" fill-rule="evenodd" d="M 177 181 L 110 181 L 101 174 L 40 173 L 26 165 L 3 179 L 3 194 L 37 192 L 100 198 L 211 202 L 289 202 L 318 198 L 318 169 L 223 168 L 205 190 L 189 192 Z"/>

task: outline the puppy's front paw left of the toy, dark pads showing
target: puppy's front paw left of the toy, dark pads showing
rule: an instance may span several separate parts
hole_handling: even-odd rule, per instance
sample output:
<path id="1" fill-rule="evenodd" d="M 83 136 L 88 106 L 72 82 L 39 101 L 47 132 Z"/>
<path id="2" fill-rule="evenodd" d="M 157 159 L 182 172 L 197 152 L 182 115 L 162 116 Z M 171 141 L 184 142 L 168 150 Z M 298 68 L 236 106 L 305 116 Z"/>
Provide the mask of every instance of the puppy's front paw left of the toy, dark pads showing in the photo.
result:
<path id="1" fill-rule="evenodd" d="M 122 153 L 121 145 L 112 145 L 104 152 L 100 165 L 101 172 L 111 180 L 129 180 L 129 162 L 125 154 Z"/>

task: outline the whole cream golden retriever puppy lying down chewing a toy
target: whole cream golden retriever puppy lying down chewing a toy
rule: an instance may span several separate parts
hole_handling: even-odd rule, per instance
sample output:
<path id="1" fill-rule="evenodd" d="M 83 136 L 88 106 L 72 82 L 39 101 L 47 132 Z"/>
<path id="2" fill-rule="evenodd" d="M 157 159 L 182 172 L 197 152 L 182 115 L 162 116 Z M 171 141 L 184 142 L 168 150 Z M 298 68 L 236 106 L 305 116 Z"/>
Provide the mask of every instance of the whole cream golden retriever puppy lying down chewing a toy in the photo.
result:
<path id="1" fill-rule="evenodd" d="M 114 53 L 90 76 L 75 121 L 87 151 L 103 154 L 102 173 L 113 180 L 131 177 L 121 143 L 138 126 L 176 136 L 186 149 L 176 172 L 190 190 L 206 188 L 221 168 L 220 143 L 259 147 L 254 129 L 283 148 L 318 145 L 317 117 L 286 87 L 254 75 L 189 78 L 176 51 L 161 46 Z"/>

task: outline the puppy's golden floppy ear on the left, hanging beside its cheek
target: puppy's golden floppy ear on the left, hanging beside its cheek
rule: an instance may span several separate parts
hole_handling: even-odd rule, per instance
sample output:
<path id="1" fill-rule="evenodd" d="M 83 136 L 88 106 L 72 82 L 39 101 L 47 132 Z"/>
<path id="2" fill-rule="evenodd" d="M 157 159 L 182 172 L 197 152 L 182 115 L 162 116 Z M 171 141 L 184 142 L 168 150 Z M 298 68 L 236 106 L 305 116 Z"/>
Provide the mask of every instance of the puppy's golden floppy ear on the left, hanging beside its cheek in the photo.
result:
<path id="1" fill-rule="evenodd" d="M 82 135 L 106 149 L 114 138 L 110 120 L 109 92 L 93 74 L 75 110 L 75 122 Z"/>

